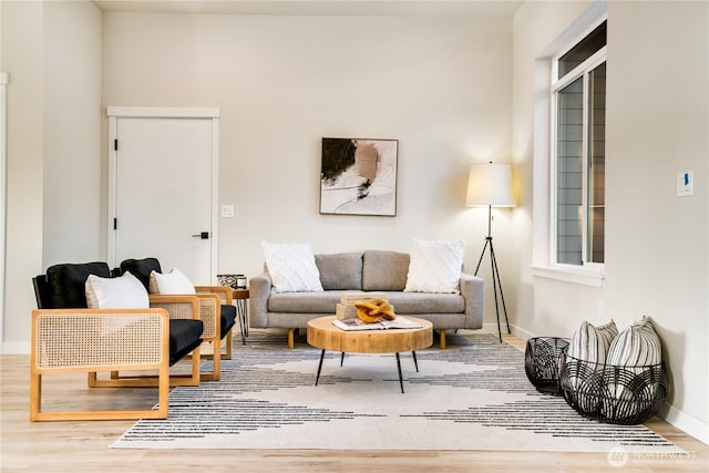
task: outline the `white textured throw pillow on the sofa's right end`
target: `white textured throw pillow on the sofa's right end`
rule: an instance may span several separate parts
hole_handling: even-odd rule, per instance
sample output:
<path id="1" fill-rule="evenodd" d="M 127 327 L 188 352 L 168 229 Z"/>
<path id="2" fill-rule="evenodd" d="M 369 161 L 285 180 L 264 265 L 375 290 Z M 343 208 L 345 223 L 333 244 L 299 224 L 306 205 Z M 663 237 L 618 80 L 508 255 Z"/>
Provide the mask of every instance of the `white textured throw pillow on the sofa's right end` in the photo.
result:
<path id="1" fill-rule="evenodd" d="M 404 292 L 458 294 L 465 241 L 413 240 Z"/>

